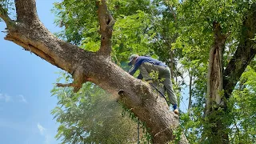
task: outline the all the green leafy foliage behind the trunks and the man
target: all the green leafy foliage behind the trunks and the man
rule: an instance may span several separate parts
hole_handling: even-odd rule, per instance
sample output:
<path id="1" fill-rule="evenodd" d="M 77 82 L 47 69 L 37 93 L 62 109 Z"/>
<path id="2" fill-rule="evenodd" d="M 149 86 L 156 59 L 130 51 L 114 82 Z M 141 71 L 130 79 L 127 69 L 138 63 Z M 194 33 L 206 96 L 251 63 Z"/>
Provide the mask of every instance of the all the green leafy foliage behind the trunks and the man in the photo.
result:
<path id="1" fill-rule="evenodd" d="M 190 143 L 209 143 L 206 134 L 210 134 L 211 131 L 207 131 L 206 128 L 216 124 L 209 123 L 204 118 L 207 66 L 210 47 L 214 42 L 213 22 L 221 24 L 223 34 L 230 33 L 223 54 L 225 68 L 237 49 L 239 40 L 243 37 L 242 21 L 246 10 L 255 1 L 109 0 L 107 2 L 115 19 L 111 53 L 113 61 L 128 70 L 126 62 L 130 54 L 158 58 L 171 67 L 177 91 L 187 85 L 185 76 L 190 74 L 192 78 L 190 93 L 193 102 L 190 110 L 185 110 L 180 116 L 181 128 Z M 54 12 L 58 16 L 56 23 L 65 28 L 58 33 L 58 36 L 85 50 L 97 51 L 100 35 L 95 2 L 64 0 L 55 3 L 54 6 Z M 216 120 L 226 125 L 225 131 L 228 131 L 230 142 L 233 143 L 255 142 L 255 63 L 253 61 L 242 74 L 238 86 L 228 100 L 229 111 L 223 112 L 223 115 L 213 115 Z M 128 137 L 133 138 L 134 135 L 128 132 L 129 129 L 121 132 L 113 123 L 102 121 L 102 118 L 108 119 L 107 115 L 110 114 L 110 111 L 106 114 L 98 113 L 106 109 L 104 106 L 110 106 L 109 110 L 117 107 L 111 103 L 113 101 L 105 99 L 110 97 L 103 96 L 106 94 L 97 86 L 86 84 L 79 94 L 71 93 L 70 89 L 54 88 L 53 94 L 58 95 L 59 104 L 65 108 L 63 110 L 63 107 L 56 107 L 53 111 L 57 121 L 62 123 L 57 135 L 57 138 L 63 138 L 62 142 L 105 143 L 115 142 L 114 140 L 120 140 L 119 138 L 126 140 Z M 65 94 L 68 96 L 66 97 Z M 181 98 L 179 101 L 182 101 Z M 222 112 L 221 109 L 219 111 Z M 130 124 L 128 120 L 124 123 L 115 121 L 118 112 L 120 111 L 116 110 L 111 114 L 115 116 L 111 120 L 118 126 L 126 127 Z M 92 120 L 96 118 L 101 120 L 95 120 L 95 126 L 92 126 Z M 120 135 L 114 137 L 114 133 L 110 132 L 108 136 L 111 141 L 106 141 L 106 133 L 102 129 L 104 126 L 108 126 L 105 129 L 116 130 Z M 92 131 L 98 135 L 94 135 Z M 122 134 L 127 135 L 127 138 L 122 138 Z"/>

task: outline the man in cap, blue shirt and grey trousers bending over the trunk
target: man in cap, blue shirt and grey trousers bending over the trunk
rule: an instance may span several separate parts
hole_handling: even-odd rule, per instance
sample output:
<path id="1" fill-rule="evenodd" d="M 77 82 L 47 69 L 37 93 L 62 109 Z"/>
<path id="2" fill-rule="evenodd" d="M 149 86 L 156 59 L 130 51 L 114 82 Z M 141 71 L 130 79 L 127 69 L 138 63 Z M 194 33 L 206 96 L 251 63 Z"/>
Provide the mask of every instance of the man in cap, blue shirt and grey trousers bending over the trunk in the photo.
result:
<path id="1" fill-rule="evenodd" d="M 139 69 L 140 74 L 138 75 L 138 79 L 144 78 L 144 80 L 149 82 L 151 86 L 153 85 L 153 81 L 162 81 L 164 90 L 166 90 L 168 94 L 169 101 L 173 105 L 174 113 L 178 114 L 177 97 L 174 94 L 170 79 L 170 68 L 163 62 L 160 62 L 154 58 L 139 56 L 138 54 L 132 54 L 129 61 L 129 66 L 134 65 L 134 67 L 129 71 L 129 74 L 134 75 L 136 70 Z M 154 78 L 150 77 L 150 73 L 152 72 L 157 72 L 158 79 L 155 80 Z"/>

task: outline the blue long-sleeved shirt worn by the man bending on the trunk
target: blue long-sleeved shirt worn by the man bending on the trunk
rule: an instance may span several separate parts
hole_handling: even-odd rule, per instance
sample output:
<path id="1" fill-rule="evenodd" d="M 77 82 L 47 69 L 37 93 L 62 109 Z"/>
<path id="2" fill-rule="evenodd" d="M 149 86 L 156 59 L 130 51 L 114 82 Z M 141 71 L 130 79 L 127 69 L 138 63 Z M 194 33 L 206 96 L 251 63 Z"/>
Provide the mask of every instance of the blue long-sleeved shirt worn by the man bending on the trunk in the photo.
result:
<path id="1" fill-rule="evenodd" d="M 137 59 L 136 59 L 136 62 L 134 64 L 134 67 L 129 71 L 129 74 L 130 75 L 134 75 L 134 73 L 136 72 L 136 70 L 138 70 L 139 66 L 142 65 L 142 63 L 144 62 L 149 62 L 149 63 L 152 63 L 154 65 L 158 65 L 158 66 L 166 66 L 166 64 L 164 64 L 163 62 L 160 62 L 154 58 L 150 58 L 150 57 L 144 57 L 144 56 L 139 56 Z M 142 74 L 139 74 L 138 75 L 138 79 L 142 79 Z"/>

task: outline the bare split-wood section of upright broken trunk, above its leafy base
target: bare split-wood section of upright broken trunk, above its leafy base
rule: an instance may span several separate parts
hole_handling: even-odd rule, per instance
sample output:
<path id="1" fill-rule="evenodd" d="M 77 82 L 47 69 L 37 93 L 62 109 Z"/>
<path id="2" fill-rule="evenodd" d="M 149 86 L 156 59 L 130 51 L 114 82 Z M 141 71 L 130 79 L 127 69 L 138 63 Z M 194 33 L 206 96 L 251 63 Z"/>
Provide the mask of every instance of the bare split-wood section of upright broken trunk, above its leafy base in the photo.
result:
<path id="1" fill-rule="evenodd" d="M 218 22 L 214 22 L 214 45 L 210 50 L 210 60 L 207 76 L 206 115 L 214 110 L 214 106 L 222 103 L 221 92 L 223 90 L 222 58 L 226 42 L 226 35 L 221 32 Z"/>

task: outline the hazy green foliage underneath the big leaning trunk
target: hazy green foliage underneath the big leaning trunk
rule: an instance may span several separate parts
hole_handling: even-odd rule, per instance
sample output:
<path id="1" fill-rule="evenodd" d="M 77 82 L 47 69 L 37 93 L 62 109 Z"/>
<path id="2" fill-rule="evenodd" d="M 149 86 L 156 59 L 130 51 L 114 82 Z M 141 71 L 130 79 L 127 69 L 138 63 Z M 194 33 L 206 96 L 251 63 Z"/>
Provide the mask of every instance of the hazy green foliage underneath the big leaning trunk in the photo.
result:
<path id="1" fill-rule="evenodd" d="M 65 73 L 62 77 L 69 81 Z M 76 94 L 71 88 L 55 87 L 52 94 L 58 97 L 52 114 L 61 124 L 56 138 L 62 143 L 136 142 L 136 123 L 122 115 L 122 107 L 98 86 L 86 83 Z"/>

